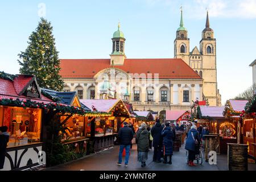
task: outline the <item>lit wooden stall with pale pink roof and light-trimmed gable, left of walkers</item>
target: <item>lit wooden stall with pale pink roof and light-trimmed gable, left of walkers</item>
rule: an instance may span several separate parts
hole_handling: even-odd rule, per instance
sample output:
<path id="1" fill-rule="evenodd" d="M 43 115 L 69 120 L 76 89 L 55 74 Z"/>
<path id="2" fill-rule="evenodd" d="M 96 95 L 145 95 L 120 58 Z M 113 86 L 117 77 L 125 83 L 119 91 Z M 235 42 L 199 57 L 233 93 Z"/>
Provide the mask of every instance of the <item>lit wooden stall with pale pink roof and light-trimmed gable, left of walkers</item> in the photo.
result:
<path id="1" fill-rule="evenodd" d="M 80 100 L 92 111 L 101 111 L 108 115 L 88 115 L 86 136 L 90 138 L 90 152 L 98 152 L 112 147 L 118 141 L 118 131 L 122 123 L 129 121 L 130 113 L 120 100 Z"/>

